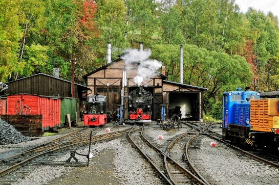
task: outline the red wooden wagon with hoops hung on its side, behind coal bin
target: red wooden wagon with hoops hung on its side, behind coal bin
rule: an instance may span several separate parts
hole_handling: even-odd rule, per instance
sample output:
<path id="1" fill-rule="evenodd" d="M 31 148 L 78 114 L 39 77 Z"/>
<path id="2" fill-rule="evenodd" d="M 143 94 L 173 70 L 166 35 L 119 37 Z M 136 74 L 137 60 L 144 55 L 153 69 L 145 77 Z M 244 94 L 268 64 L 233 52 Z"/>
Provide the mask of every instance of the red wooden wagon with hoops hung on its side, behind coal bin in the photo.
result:
<path id="1" fill-rule="evenodd" d="M 60 126 L 60 104 L 58 96 L 16 94 L 7 96 L 8 115 L 42 115 L 42 130 Z"/>

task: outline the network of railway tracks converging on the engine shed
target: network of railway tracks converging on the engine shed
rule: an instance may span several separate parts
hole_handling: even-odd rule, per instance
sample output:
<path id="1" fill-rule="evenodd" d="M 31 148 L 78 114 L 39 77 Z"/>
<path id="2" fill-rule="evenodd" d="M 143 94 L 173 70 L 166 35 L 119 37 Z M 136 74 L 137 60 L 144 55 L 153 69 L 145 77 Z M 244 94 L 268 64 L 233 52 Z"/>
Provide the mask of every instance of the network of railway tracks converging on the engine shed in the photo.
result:
<path id="1" fill-rule="evenodd" d="M 108 145 L 108 141 L 117 138 L 117 140 L 121 140 L 121 145 L 123 145 L 127 151 L 135 150 L 134 148 L 131 148 L 131 143 L 136 146 L 137 150 L 144 156 L 145 161 L 148 161 L 148 163 L 144 165 L 144 168 L 148 169 L 148 175 L 143 174 L 142 177 L 140 177 L 143 178 L 143 184 L 219 184 L 218 177 L 216 174 L 214 174 L 214 170 L 211 170 L 211 166 L 208 166 L 208 163 L 207 166 L 204 164 L 204 158 L 208 156 L 218 156 L 220 158 L 229 156 L 234 158 L 235 162 L 237 162 L 237 160 L 241 161 L 240 163 L 245 162 L 254 165 L 255 168 L 257 166 L 261 168 L 273 168 L 269 165 L 266 165 L 267 163 L 260 160 L 255 160 L 246 154 L 246 152 L 251 151 L 239 150 L 238 147 L 231 145 L 231 143 L 223 141 L 221 135 L 219 133 L 214 133 L 214 131 L 211 129 L 212 127 L 218 127 L 218 125 L 214 126 L 213 124 L 204 123 L 187 124 L 189 126 L 184 125 L 183 128 L 164 132 L 164 136 L 166 134 L 169 135 L 168 137 L 165 137 L 164 140 L 158 140 L 154 135 L 151 134 L 154 133 L 154 131 L 158 131 L 158 125 L 156 124 L 142 127 L 135 125 L 133 128 L 132 126 L 127 128 L 128 125 L 125 125 L 121 126 L 119 131 L 106 134 L 98 134 L 100 133 L 98 132 L 100 129 L 96 129 L 93 131 L 96 135 L 92 137 L 92 143 L 107 142 L 106 145 Z M 150 130 L 148 131 L 148 129 Z M 159 130 L 162 129 L 159 128 Z M 110 136 L 109 134 L 112 135 Z M 126 136 L 130 141 L 126 139 Z M 13 169 L 4 175 L 1 175 L 0 184 L 6 185 L 16 182 L 17 179 L 24 178 L 24 176 L 26 176 L 30 171 L 35 170 L 41 165 L 86 165 L 84 162 L 82 162 L 83 164 L 69 163 L 66 165 L 65 159 L 59 161 L 59 157 L 67 155 L 68 157 L 66 158 L 69 158 L 72 151 L 79 151 L 80 148 L 83 148 L 86 153 L 86 151 L 88 151 L 90 140 L 88 134 L 85 134 L 81 137 L 76 135 L 71 139 L 68 138 L 66 140 L 69 140 L 68 143 L 66 141 L 59 141 L 56 143 L 60 146 L 54 146 L 55 142 L 50 143 L 50 145 L 53 145 L 54 148 L 47 148 L 38 152 L 44 153 L 50 151 L 49 153 L 37 156 L 31 161 L 23 163 L 19 168 Z M 218 143 L 218 147 L 206 146 L 209 145 L 208 141 L 216 141 Z M 206 151 L 209 149 L 209 152 L 201 154 L 204 148 L 207 148 Z M 35 149 L 39 148 L 37 147 Z M 210 152 L 218 152 L 218 155 L 212 155 Z M 129 155 L 129 157 L 140 158 L 134 152 L 132 155 Z M 215 157 L 212 158 L 212 161 L 216 161 Z M 55 160 L 57 158 L 58 160 Z M 269 158 L 270 161 L 275 163 L 274 158 Z M 266 160 L 268 160 L 268 157 Z M 5 166 L 5 162 L 3 164 Z M 3 164 L 0 164 L 0 167 L 2 167 Z M 212 166 L 213 165 L 214 164 L 212 164 Z M 227 166 L 231 165 L 232 164 Z M 149 166 L 152 167 L 149 168 Z M 225 166 L 226 164 L 222 164 L 222 167 Z M 126 168 L 129 168 L 129 166 Z M 223 171 L 226 170 L 223 169 Z M 130 172 L 126 171 L 125 173 Z M 137 176 L 137 178 L 139 177 Z"/>

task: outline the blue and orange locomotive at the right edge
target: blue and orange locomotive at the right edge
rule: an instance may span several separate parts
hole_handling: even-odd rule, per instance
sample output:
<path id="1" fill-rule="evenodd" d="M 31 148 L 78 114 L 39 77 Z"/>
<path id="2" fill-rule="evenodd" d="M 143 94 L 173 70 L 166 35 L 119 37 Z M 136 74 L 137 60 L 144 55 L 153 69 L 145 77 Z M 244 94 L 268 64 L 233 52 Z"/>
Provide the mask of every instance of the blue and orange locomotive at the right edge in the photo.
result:
<path id="1" fill-rule="evenodd" d="M 223 139 L 248 147 L 279 147 L 278 99 L 249 88 L 223 93 Z"/>

